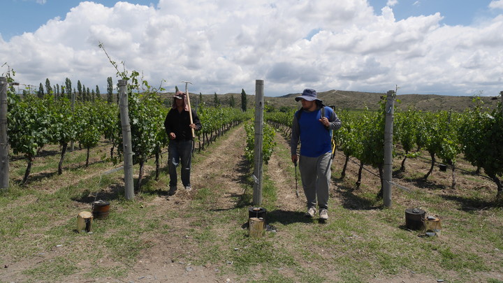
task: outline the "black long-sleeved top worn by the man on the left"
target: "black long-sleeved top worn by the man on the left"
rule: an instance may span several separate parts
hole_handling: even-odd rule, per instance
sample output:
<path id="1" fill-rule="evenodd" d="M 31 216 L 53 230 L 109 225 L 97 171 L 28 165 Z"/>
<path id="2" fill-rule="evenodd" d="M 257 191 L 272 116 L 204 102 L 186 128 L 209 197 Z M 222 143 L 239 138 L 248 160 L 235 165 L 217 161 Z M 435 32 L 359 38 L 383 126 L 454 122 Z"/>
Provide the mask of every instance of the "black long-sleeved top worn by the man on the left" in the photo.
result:
<path id="1" fill-rule="evenodd" d="M 196 131 L 201 129 L 201 121 L 196 113 L 196 111 L 191 110 L 192 112 L 192 122 L 196 124 Z M 166 129 L 166 133 L 175 133 L 175 140 L 191 140 L 192 133 L 189 127 L 190 125 L 190 117 L 189 112 L 187 110 L 183 110 L 182 113 L 179 113 L 177 109 L 171 108 L 166 115 L 166 119 L 164 120 L 164 129 Z"/>

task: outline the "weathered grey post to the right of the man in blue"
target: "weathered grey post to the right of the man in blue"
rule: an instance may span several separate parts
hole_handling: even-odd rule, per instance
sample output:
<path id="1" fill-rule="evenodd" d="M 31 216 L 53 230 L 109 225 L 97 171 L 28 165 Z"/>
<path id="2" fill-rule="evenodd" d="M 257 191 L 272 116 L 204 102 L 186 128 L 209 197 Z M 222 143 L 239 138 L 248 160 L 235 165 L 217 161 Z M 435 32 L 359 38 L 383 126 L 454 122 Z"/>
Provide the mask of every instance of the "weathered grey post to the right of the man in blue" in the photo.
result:
<path id="1" fill-rule="evenodd" d="M 384 182 L 383 201 L 391 207 L 391 179 L 393 171 L 393 115 L 395 114 L 395 94 L 393 90 L 386 94 L 386 120 L 384 124 Z"/>

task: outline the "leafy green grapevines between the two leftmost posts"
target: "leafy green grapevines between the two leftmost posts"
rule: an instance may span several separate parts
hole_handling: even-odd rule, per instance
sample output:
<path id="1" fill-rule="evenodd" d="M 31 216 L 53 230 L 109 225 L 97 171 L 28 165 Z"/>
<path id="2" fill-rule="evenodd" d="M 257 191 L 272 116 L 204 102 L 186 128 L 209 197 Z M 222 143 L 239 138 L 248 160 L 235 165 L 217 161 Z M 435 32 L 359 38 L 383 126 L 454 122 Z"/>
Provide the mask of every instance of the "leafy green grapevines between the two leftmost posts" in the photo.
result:
<path id="1" fill-rule="evenodd" d="M 59 174 L 62 173 L 68 143 L 71 142 L 78 142 L 87 148 L 87 166 L 90 148 L 99 143 L 113 116 L 114 108 L 107 103 L 78 102 L 72 110 L 68 99 L 9 96 L 10 147 L 14 154 L 22 154 L 27 159 L 22 183 L 27 182 L 34 157 L 48 144 L 61 147 Z"/>

